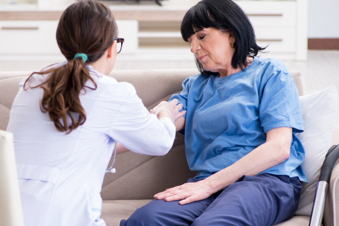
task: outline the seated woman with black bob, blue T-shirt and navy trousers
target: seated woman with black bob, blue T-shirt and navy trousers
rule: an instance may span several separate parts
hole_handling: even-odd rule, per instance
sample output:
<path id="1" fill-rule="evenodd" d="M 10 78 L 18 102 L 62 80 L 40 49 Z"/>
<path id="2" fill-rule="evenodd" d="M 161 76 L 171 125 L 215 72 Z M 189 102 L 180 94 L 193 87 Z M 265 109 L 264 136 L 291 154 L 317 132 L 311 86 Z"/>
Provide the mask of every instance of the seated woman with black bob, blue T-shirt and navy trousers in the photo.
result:
<path id="1" fill-rule="evenodd" d="M 202 0 L 186 13 L 181 34 L 200 74 L 186 79 L 176 121 L 187 183 L 156 194 L 121 226 L 271 226 L 296 211 L 305 152 L 298 92 L 288 69 L 256 57 L 264 48 L 231 0 Z"/>

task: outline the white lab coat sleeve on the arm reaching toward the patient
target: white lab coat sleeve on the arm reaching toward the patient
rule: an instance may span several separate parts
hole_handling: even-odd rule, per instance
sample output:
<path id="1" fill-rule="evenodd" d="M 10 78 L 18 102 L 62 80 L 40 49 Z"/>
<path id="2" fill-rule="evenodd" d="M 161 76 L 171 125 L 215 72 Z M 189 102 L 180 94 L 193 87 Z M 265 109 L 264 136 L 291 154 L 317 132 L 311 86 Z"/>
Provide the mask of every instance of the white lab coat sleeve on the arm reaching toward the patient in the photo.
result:
<path id="1" fill-rule="evenodd" d="M 121 106 L 111 127 L 111 137 L 129 150 L 147 155 L 165 155 L 175 138 L 171 119 L 149 113 L 130 85 L 130 96 Z"/>

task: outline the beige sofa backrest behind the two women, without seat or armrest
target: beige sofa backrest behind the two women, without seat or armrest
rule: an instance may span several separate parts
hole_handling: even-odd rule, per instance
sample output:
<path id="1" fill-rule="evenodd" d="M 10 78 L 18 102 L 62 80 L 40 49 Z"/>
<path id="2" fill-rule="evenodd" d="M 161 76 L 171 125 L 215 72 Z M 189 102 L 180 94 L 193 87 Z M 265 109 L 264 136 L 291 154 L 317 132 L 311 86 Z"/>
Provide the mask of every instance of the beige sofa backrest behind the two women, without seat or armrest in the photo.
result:
<path id="1" fill-rule="evenodd" d="M 18 83 L 31 72 L 0 72 L 0 129 L 8 124 L 9 111 L 18 92 Z M 144 105 L 151 109 L 162 100 L 182 90 L 181 83 L 198 74 L 196 69 L 113 70 L 110 76 L 136 87 Z M 299 95 L 304 95 L 303 76 L 291 71 Z M 111 164 L 111 163 L 110 163 Z M 157 192 L 185 183 L 195 172 L 189 170 L 185 157 L 184 136 L 177 133 L 172 149 L 165 156 L 126 152 L 117 155 L 116 173 L 105 175 L 102 198 L 149 199 Z"/>

